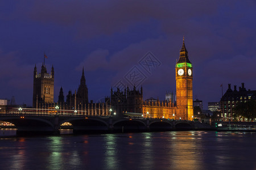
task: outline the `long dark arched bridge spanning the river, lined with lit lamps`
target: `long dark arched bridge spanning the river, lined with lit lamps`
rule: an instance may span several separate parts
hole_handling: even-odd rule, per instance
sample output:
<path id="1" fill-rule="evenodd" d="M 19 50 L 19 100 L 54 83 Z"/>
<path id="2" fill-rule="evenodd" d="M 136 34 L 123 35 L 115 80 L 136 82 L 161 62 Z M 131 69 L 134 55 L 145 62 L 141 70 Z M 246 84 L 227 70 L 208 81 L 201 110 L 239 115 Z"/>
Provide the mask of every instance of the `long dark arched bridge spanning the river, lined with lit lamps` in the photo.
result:
<path id="1" fill-rule="evenodd" d="M 75 116 L 59 114 L 0 114 L 0 121 L 16 126 L 17 134 L 59 134 L 61 124 L 73 125 L 73 133 L 110 133 L 139 131 L 173 131 L 205 129 L 211 126 L 193 121 L 152 118 L 117 118 L 102 116 Z"/>

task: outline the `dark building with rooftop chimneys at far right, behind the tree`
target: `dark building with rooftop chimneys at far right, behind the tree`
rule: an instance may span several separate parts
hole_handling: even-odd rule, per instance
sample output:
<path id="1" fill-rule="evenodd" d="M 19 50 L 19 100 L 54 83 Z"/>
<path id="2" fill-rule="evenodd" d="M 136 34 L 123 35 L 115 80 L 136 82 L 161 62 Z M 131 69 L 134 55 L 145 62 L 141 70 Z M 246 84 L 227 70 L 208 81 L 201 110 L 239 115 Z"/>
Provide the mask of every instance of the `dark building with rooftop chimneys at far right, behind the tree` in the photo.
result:
<path id="1" fill-rule="evenodd" d="M 234 90 L 231 89 L 231 84 L 228 84 L 228 90 L 221 97 L 221 117 L 223 120 L 228 121 L 233 119 L 234 108 L 240 102 L 246 102 L 248 100 L 256 100 L 255 90 L 246 90 L 245 83 L 242 83 L 242 87 L 239 87 L 237 91 L 237 86 L 234 86 Z M 242 118 L 241 118 L 242 120 Z M 245 118 L 247 121 L 247 118 Z"/>

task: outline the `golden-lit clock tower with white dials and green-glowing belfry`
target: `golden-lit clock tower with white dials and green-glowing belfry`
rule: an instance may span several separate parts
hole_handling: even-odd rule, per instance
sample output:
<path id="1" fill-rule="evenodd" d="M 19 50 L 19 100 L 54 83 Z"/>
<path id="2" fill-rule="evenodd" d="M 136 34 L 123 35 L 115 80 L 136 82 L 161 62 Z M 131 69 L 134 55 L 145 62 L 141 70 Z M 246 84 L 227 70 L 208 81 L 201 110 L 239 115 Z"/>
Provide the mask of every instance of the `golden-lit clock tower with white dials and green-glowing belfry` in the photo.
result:
<path id="1" fill-rule="evenodd" d="M 177 117 L 181 120 L 192 120 L 193 116 L 193 93 L 192 80 L 193 69 L 192 63 L 188 59 L 188 52 L 183 45 L 180 50 L 179 61 L 176 62 L 176 96 L 177 96 Z"/>

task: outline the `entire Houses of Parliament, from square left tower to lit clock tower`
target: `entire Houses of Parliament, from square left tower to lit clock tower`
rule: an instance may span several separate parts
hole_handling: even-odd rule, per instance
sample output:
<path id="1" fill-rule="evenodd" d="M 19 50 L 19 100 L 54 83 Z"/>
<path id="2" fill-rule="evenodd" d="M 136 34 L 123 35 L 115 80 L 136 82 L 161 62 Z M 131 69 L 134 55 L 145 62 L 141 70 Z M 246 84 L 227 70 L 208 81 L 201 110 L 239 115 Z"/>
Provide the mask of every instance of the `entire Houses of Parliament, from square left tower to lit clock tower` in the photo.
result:
<path id="1" fill-rule="evenodd" d="M 193 68 L 188 59 L 188 52 L 183 45 L 180 49 L 179 60 L 175 66 L 176 77 L 176 101 L 172 99 L 160 100 L 143 100 L 143 88 L 138 90 L 125 88 L 124 91 L 113 91 L 111 88 L 110 97 L 105 97 L 105 101 L 93 103 L 88 100 L 88 87 L 86 85 L 84 69 L 80 85 L 77 91 L 72 94 L 68 92 L 64 100 L 63 88 L 60 88 L 59 100 L 53 101 L 54 90 L 54 69 L 52 66 L 51 73 L 47 73 L 46 66 L 42 65 L 41 72 L 34 69 L 34 89 L 33 89 L 33 107 L 36 109 L 54 108 L 59 106 L 59 112 L 76 113 L 89 116 L 127 116 L 138 115 L 144 118 L 169 118 L 175 120 L 192 120 L 193 119 L 193 95 L 192 80 Z"/>

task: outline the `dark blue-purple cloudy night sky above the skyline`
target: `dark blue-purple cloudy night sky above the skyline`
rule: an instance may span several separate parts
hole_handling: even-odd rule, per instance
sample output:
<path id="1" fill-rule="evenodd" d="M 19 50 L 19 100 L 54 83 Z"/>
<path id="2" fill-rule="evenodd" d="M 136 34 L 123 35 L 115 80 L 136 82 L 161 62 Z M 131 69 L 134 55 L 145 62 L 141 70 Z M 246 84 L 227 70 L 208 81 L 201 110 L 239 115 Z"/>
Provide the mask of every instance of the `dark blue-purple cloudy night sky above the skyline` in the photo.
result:
<path id="1" fill-rule="evenodd" d="M 55 69 L 55 101 L 77 90 L 84 66 L 89 100 L 137 68 L 144 100 L 175 92 L 175 63 L 185 36 L 193 96 L 219 101 L 223 83 L 256 90 L 255 1 L 0 1 L 0 99 L 32 105 L 34 66 Z M 148 73 L 148 53 L 160 65 Z M 39 70 L 40 71 L 40 70 Z M 128 84 L 127 82 L 125 82 Z M 131 87 L 131 85 L 130 85 Z"/>

